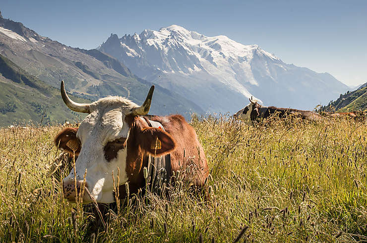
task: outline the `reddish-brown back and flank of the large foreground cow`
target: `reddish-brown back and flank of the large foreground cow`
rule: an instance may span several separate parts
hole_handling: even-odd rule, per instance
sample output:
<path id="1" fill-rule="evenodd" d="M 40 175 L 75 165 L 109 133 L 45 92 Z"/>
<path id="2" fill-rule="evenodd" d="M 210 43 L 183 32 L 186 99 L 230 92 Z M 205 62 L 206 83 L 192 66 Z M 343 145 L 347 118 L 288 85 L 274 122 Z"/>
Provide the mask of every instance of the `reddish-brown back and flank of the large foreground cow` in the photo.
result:
<path id="1" fill-rule="evenodd" d="M 172 171 L 184 173 L 187 167 L 190 167 L 190 173 L 194 172 L 195 175 L 191 181 L 196 185 L 203 185 L 208 177 L 209 169 L 204 150 L 194 128 L 181 115 L 154 116 L 150 119 L 160 122 L 166 132 L 175 139 L 176 148 L 171 152 Z"/>

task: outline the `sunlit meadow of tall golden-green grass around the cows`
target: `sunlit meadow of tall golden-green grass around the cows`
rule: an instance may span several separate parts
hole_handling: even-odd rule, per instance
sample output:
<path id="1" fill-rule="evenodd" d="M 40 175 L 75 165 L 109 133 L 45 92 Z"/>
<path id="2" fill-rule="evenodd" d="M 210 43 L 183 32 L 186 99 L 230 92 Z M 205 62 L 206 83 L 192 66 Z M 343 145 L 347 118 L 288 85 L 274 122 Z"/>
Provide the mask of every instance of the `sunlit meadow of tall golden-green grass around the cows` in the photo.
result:
<path id="1" fill-rule="evenodd" d="M 210 200 L 184 183 L 169 201 L 132 195 L 98 229 L 50 175 L 62 127 L 0 128 L 0 242 L 367 241 L 366 122 L 221 116 L 191 125 L 211 170 Z"/>

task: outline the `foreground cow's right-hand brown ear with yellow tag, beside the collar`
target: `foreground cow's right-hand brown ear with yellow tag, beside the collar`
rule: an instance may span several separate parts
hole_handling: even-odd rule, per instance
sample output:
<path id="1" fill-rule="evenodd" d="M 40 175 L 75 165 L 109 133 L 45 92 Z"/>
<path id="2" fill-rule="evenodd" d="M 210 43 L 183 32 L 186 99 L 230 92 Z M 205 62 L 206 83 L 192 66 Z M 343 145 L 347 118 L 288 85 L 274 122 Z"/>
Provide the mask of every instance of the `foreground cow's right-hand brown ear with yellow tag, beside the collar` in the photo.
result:
<path id="1" fill-rule="evenodd" d="M 157 127 L 144 128 L 139 134 L 138 141 L 141 148 L 153 156 L 166 155 L 176 147 L 174 139 Z"/>

